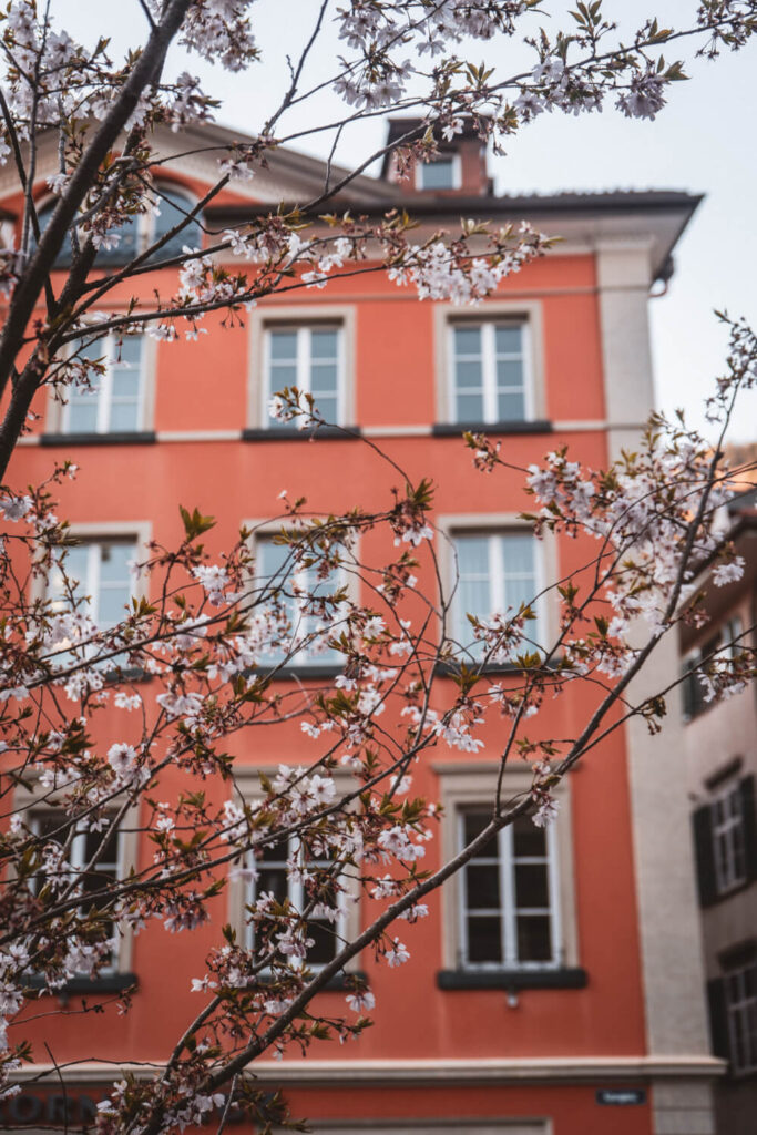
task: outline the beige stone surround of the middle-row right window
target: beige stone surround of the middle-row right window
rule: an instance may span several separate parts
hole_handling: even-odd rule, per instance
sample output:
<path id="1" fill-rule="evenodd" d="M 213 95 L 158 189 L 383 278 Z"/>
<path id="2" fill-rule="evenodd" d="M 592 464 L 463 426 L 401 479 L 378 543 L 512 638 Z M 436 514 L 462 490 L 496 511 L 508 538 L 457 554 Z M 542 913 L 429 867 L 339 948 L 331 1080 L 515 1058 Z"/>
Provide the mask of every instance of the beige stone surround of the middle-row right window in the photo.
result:
<path id="1" fill-rule="evenodd" d="M 529 533 L 533 536 L 531 526 L 527 521 L 523 521 L 518 513 L 512 512 L 456 513 L 441 515 L 437 519 L 437 529 L 443 541 L 438 557 L 439 577 L 444 592 L 447 597 L 451 596 L 452 589 L 456 585 L 456 537 L 474 536 L 477 533 L 481 533 L 482 536 L 507 536 L 510 532 L 512 532 L 513 536 L 524 536 Z M 539 592 L 544 591 L 545 588 L 554 585 L 554 582 L 560 579 L 557 574 L 557 540 L 553 532 L 545 532 L 541 539 L 537 539 L 536 536 L 533 536 L 533 566 L 536 577 L 536 595 L 539 595 L 539 598 L 533 605 L 536 608 L 537 620 L 536 628 L 532 622 L 527 624 L 525 633 L 529 638 L 537 638 L 542 647 L 549 648 L 557 637 L 557 604 L 555 603 L 552 591 L 544 595 L 540 595 Z M 457 602 L 457 595 L 459 592 L 455 592 L 451 611 L 452 621 L 448 627 L 448 634 L 452 636 L 456 632 L 455 603 Z M 535 629 L 538 632 L 536 636 L 533 633 Z"/>

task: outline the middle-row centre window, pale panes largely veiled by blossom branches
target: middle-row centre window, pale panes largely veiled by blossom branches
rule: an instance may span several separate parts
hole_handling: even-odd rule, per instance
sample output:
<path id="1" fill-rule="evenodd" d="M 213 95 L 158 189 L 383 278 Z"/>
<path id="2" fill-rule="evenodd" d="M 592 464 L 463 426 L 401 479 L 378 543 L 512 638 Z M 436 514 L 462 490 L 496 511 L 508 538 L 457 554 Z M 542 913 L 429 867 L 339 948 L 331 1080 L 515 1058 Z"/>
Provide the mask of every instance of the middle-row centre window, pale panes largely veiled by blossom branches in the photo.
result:
<path id="1" fill-rule="evenodd" d="M 277 619 L 266 665 L 334 666 L 342 655 L 327 645 L 338 620 L 334 603 L 325 602 L 344 585 L 340 572 L 319 577 L 316 564 L 295 564 L 293 549 L 272 539 L 258 543 L 258 582 L 278 597 Z"/>

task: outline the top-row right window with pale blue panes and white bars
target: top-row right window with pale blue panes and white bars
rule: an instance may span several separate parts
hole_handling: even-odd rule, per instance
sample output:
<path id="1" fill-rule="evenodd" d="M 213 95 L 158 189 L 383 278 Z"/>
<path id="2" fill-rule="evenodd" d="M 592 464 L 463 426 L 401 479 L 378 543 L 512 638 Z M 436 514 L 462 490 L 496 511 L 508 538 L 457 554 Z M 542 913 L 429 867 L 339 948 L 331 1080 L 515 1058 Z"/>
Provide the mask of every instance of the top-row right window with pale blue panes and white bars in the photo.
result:
<path id="1" fill-rule="evenodd" d="M 496 424 L 532 417 L 527 333 L 524 322 L 513 320 L 451 326 L 454 422 Z"/>

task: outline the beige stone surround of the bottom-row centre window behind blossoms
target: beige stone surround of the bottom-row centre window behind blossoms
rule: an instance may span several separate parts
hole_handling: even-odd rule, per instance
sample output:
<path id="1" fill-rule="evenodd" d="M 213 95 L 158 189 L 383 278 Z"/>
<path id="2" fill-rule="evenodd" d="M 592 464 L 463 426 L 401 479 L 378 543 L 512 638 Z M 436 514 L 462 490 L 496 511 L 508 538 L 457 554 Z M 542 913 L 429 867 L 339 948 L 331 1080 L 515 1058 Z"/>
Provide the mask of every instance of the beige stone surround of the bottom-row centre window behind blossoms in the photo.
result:
<path id="1" fill-rule="evenodd" d="M 318 772 L 320 770 L 313 770 Z M 254 766 L 241 768 L 238 766 L 234 770 L 234 787 L 236 792 L 232 797 L 235 804 L 239 802 L 239 797 L 245 804 L 254 805 L 263 799 L 263 790 L 260 784 L 260 773 L 263 773 L 269 780 L 278 772 L 278 765 L 269 766 Z M 348 773 L 340 770 L 333 770 L 331 772 L 321 775 L 329 775 L 336 784 L 337 799 L 346 796 L 348 792 L 354 791 L 356 788 L 355 780 Z M 247 852 L 249 854 L 249 852 Z M 301 885 L 301 884 L 300 884 Z M 228 923 L 236 933 L 237 941 L 244 944 L 247 949 L 252 944 L 252 927 L 247 924 L 244 917 L 244 907 L 250 901 L 251 884 L 246 883 L 236 873 L 234 873 L 228 883 Z M 294 901 L 294 900 L 293 900 Z M 360 883 L 359 880 L 353 875 L 347 876 L 345 891 L 339 896 L 340 901 L 340 916 L 335 924 L 336 933 L 344 938 L 347 942 L 354 941 L 360 934 Z M 296 905 L 296 903 L 295 903 Z M 318 966 L 309 965 L 309 968 L 316 973 Z M 351 973 L 359 969 L 359 956 L 352 958 L 345 964 L 345 973 Z"/>

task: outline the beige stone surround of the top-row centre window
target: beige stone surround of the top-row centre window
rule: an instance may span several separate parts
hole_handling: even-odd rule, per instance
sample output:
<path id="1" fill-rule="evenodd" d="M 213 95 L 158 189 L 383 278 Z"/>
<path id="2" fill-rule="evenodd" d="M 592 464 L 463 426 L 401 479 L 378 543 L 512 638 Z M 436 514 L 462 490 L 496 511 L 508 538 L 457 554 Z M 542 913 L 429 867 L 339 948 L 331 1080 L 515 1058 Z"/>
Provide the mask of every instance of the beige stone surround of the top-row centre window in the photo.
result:
<path id="1" fill-rule="evenodd" d="M 255 309 L 250 317 L 250 375 L 247 393 L 247 426 L 250 429 L 269 429 L 268 417 L 268 352 L 269 330 L 318 330 L 319 327 L 338 328 L 339 373 L 338 373 L 338 422 L 354 426 L 356 421 L 355 400 L 355 309 L 346 304 L 278 304 Z M 298 346 L 298 345 L 297 345 Z M 304 362 L 297 348 L 297 386 L 309 390 L 310 375 L 304 375 Z M 271 392 L 272 393 L 272 392 Z M 291 426 L 300 426 L 294 420 Z M 271 430 L 271 436 L 276 430 Z"/>

